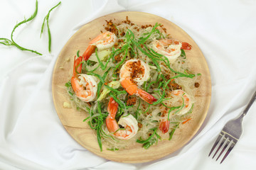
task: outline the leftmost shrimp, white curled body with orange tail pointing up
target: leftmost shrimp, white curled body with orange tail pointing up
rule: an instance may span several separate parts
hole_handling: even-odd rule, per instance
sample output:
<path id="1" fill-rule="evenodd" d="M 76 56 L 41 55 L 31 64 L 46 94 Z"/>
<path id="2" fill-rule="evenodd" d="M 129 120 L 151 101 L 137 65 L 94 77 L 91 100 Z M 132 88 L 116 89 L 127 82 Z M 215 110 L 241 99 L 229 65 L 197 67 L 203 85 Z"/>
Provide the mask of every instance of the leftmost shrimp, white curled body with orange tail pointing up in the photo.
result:
<path id="1" fill-rule="evenodd" d="M 94 101 L 97 94 L 97 78 L 80 74 L 82 71 L 82 57 L 74 60 L 73 77 L 71 78 L 71 86 L 75 91 L 75 95 L 81 101 L 89 102 Z"/>

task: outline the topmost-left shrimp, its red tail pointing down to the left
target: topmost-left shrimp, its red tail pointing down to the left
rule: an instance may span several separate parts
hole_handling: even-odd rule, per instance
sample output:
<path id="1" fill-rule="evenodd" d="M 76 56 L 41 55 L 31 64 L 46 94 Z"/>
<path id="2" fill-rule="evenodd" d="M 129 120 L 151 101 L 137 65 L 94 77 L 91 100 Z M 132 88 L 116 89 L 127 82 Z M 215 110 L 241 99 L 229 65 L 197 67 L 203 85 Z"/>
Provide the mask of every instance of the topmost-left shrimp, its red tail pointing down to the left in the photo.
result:
<path id="1" fill-rule="evenodd" d="M 97 47 L 98 50 L 105 50 L 110 47 L 113 47 L 114 43 L 117 41 L 117 36 L 114 33 L 109 31 L 97 35 L 96 38 L 89 42 L 89 46 L 85 50 L 82 55 L 83 60 L 88 60 L 89 57 L 95 52 L 95 48 Z"/>

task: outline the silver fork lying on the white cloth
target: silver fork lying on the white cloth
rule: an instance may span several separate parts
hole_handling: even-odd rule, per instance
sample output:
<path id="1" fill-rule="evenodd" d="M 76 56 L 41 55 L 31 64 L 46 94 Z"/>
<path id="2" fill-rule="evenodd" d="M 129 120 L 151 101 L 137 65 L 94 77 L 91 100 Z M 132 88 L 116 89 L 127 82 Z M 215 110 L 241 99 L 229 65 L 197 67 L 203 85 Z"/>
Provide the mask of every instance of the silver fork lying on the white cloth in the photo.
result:
<path id="1" fill-rule="evenodd" d="M 220 145 L 218 146 L 218 149 L 216 150 L 215 154 L 213 154 L 213 158 L 215 155 L 218 153 L 220 148 L 225 144 L 223 149 L 221 150 L 220 154 L 218 155 L 216 161 L 219 159 L 221 154 L 225 151 L 225 149 L 228 150 L 225 152 L 225 155 L 223 159 L 221 160 L 220 164 L 223 163 L 226 157 L 228 157 L 228 154 L 231 152 L 233 147 L 235 147 L 235 144 L 238 142 L 240 136 L 242 135 L 242 118 L 246 115 L 247 111 L 250 109 L 250 106 L 252 106 L 252 103 L 256 99 L 256 91 L 253 94 L 252 98 L 250 99 L 250 102 L 247 104 L 246 108 L 244 111 L 242 111 L 241 115 L 233 120 L 229 120 L 228 123 L 225 124 L 223 130 L 221 130 L 220 134 L 218 135 L 217 140 L 215 141 L 212 149 L 210 149 L 210 154 L 213 152 L 215 147 L 218 145 L 220 142 Z M 208 157 L 210 157 L 210 154 Z"/>

